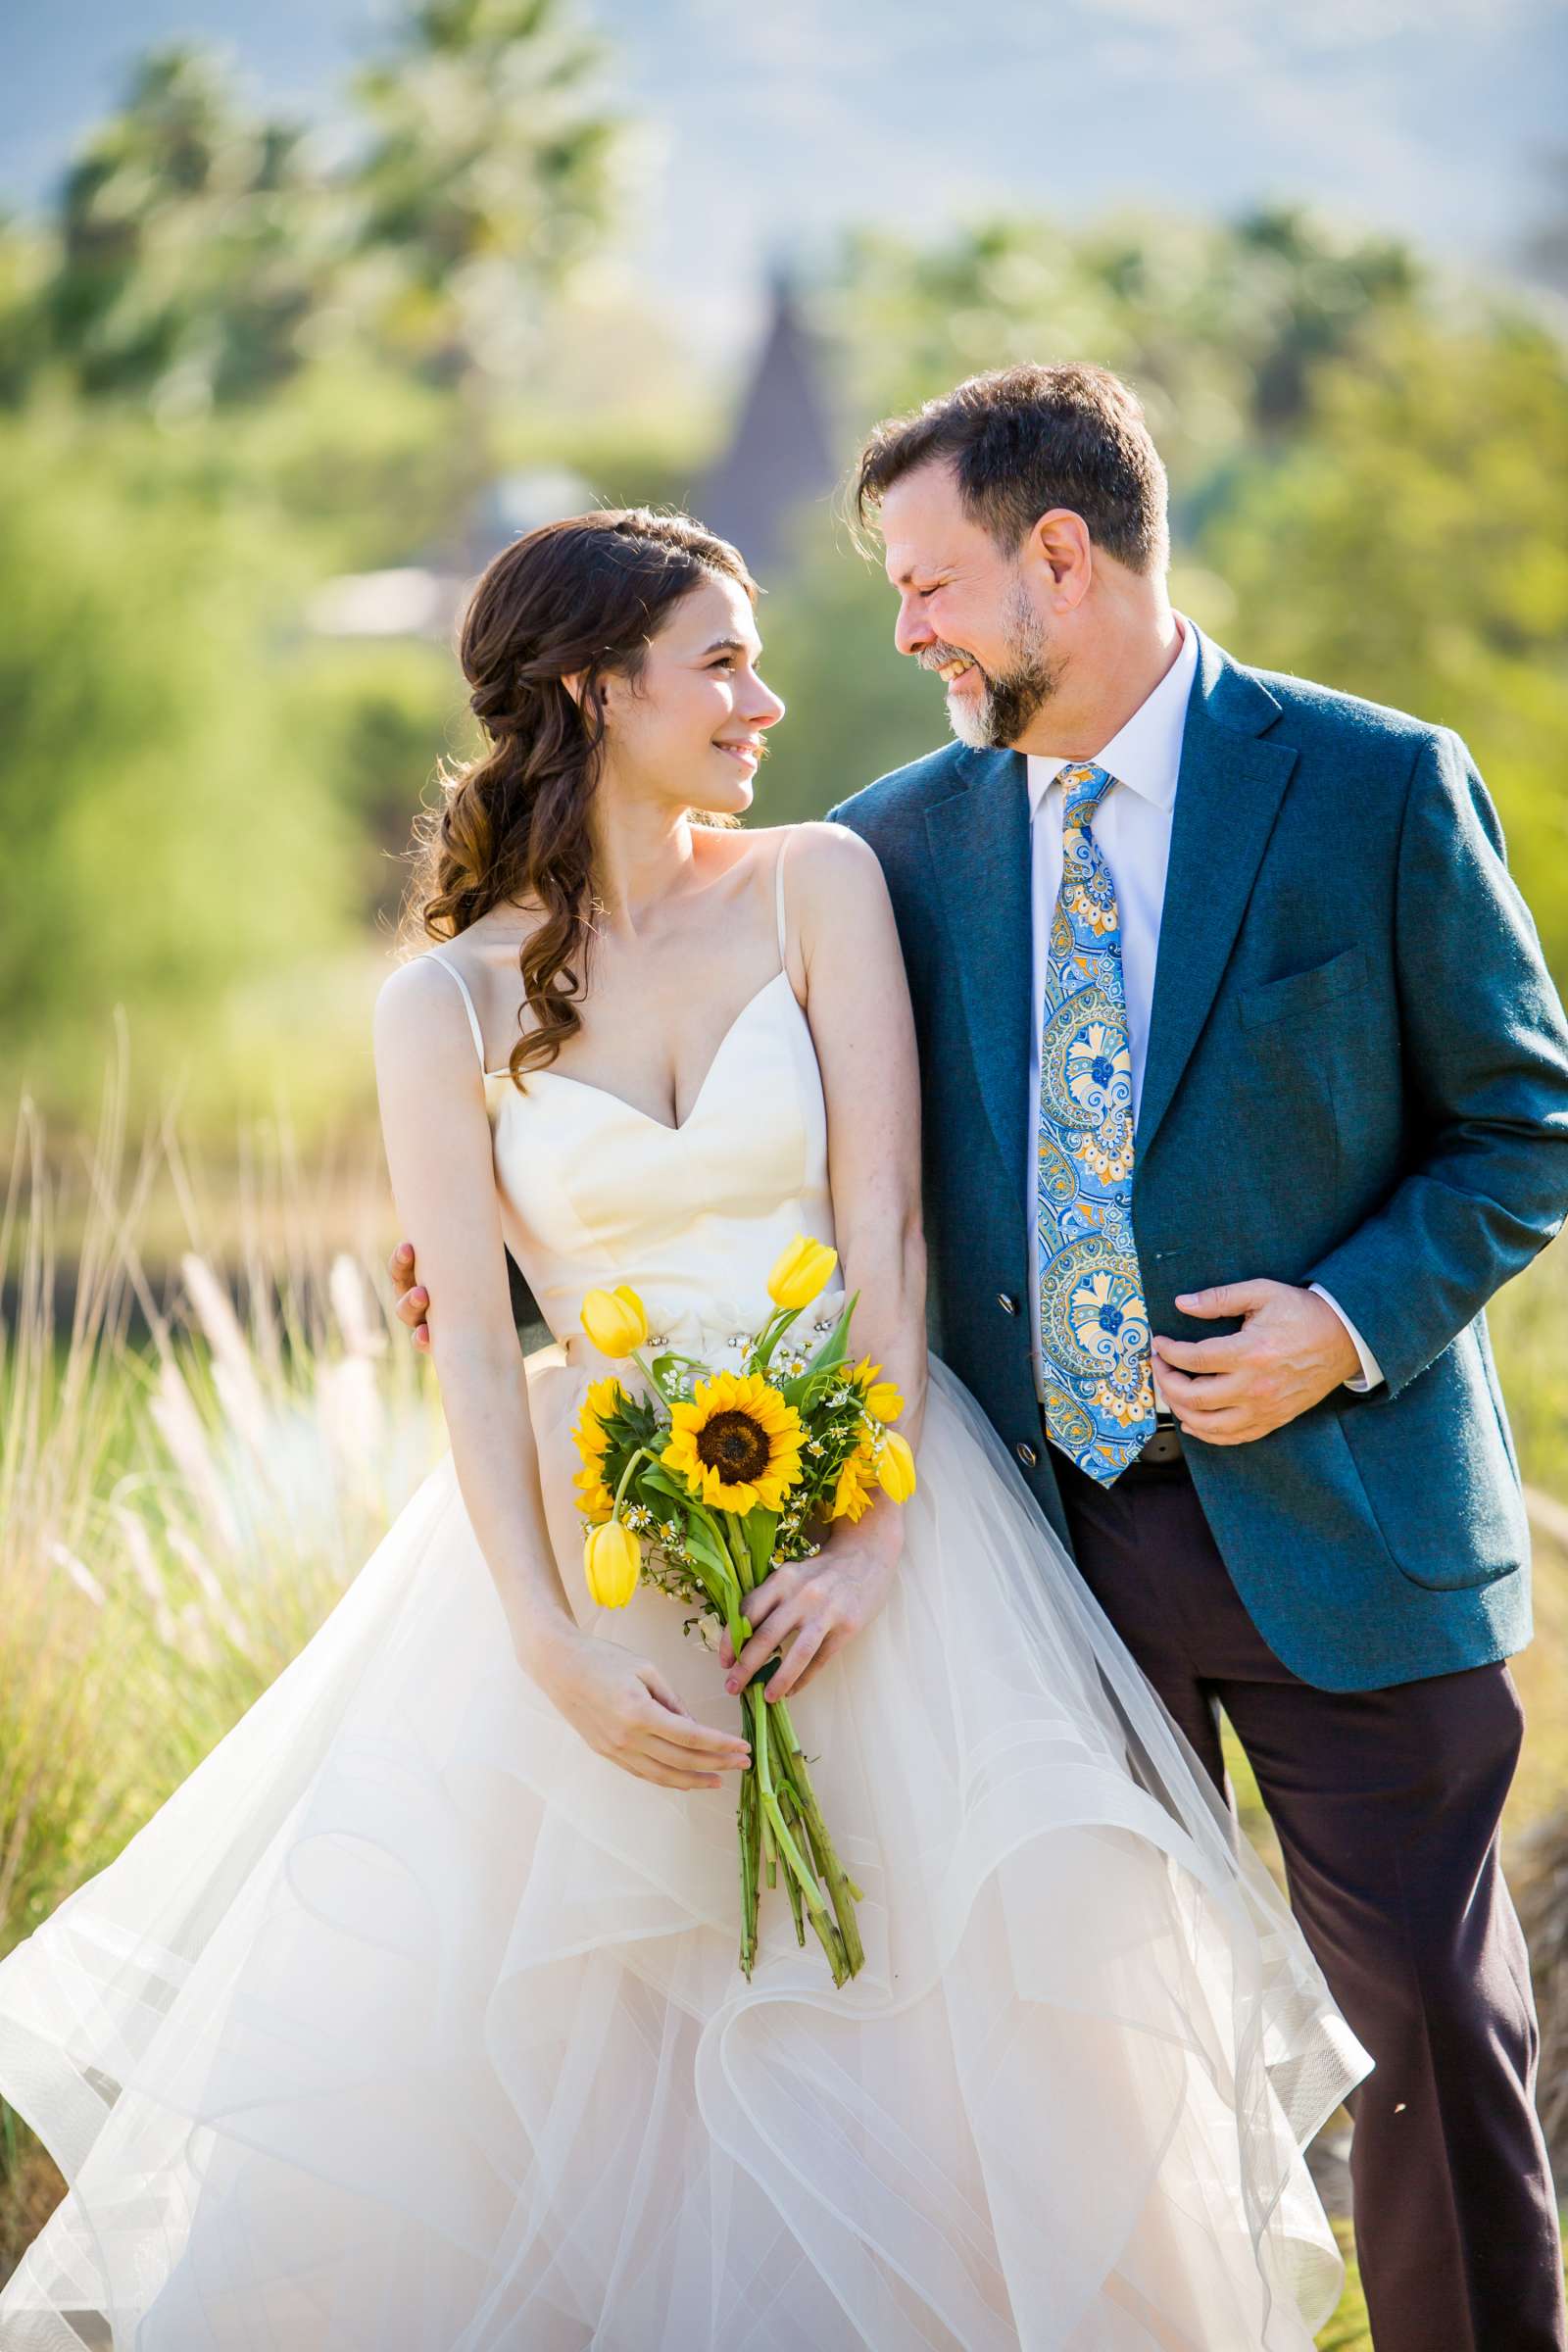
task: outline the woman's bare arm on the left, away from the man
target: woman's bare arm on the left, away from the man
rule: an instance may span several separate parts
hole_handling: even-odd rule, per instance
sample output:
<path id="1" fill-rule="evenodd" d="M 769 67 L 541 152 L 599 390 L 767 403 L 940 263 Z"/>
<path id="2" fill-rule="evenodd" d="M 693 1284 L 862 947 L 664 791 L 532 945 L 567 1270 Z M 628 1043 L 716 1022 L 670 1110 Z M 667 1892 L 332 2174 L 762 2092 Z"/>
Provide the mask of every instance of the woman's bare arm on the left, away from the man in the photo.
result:
<path id="1" fill-rule="evenodd" d="M 393 1200 L 433 1298 L 451 1461 L 517 1661 L 567 1722 L 644 1780 L 719 1788 L 743 1740 L 698 1724 L 651 1661 L 585 1635 L 545 1524 L 522 1345 L 473 1040 L 451 978 L 418 960 L 376 997 L 376 1087 Z"/>

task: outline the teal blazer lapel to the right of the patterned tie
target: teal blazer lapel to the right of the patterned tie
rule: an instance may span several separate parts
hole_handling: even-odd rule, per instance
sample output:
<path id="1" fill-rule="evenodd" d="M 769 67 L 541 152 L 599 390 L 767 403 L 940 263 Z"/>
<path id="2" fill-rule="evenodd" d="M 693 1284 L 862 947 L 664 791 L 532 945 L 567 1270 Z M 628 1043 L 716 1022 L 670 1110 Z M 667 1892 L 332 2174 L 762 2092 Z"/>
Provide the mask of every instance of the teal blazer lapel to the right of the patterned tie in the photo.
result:
<path id="1" fill-rule="evenodd" d="M 1199 630 L 1171 816 L 1150 1049 L 1133 1136 L 1143 1164 L 1225 974 L 1295 750 L 1262 743 L 1279 703 Z"/>

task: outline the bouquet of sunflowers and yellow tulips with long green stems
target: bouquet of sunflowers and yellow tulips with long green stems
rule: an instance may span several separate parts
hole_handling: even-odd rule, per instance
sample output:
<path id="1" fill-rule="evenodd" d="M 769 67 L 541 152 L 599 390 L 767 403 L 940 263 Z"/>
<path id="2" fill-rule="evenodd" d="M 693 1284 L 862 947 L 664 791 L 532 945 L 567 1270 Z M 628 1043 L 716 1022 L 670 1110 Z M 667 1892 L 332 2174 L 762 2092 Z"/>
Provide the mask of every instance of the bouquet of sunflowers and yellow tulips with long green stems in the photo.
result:
<path id="1" fill-rule="evenodd" d="M 583 1329 L 611 1359 L 644 1378 L 635 1395 L 614 1374 L 583 1399 L 574 1439 L 583 1458 L 578 1508 L 588 1519 L 583 1566 L 604 1609 L 625 1609 L 646 1578 L 729 1630 L 736 1656 L 750 1639 L 745 1597 L 771 1569 L 811 1559 L 832 1519 L 858 1519 L 877 1491 L 914 1494 L 914 1456 L 891 1421 L 903 1397 L 865 1357 L 849 1362 L 849 1298 L 816 1352 L 788 1334 L 825 1289 L 837 1251 L 797 1235 L 769 1275 L 773 1315 L 745 1343 L 741 1371 L 710 1371 L 665 1350 L 644 1357 L 649 1319 L 628 1284 L 590 1291 Z M 823 1331 L 818 1322 L 818 1334 Z M 752 1750 L 741 1776 L 741 1969 L 757 1957 L 762 1879 L 778 1884 L 804 1945 L 811 1922 L 835 1985 L 863 1959 L 860 1889 L 835 1853 L 811 1788 L 790 1708 L 764 1696 L 780 1661 L 769 1658 L 741 1693 Z"/>

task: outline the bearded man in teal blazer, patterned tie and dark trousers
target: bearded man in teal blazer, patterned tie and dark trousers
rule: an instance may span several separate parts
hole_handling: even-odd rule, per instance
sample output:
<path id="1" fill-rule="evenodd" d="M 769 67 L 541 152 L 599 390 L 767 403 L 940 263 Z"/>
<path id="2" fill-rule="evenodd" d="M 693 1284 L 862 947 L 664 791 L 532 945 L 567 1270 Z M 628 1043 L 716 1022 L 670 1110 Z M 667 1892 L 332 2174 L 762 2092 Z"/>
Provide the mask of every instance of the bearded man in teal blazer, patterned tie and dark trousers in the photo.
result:
<path id="1" fill-rule="evenodd" d="M 933 1343 L 1213 1778 L 1220 1708 L 1253 1764 L 1375 2058 L 1378 2352 L 1561 2352 L 1483 1305 L 1568 1211 L 1568 1028 L 1497 816 L 1453 731 L 1171 609 L 1103 369 L 879 426 L 858 508 L 957 736 L 830 811 L 910 969 Z"/>

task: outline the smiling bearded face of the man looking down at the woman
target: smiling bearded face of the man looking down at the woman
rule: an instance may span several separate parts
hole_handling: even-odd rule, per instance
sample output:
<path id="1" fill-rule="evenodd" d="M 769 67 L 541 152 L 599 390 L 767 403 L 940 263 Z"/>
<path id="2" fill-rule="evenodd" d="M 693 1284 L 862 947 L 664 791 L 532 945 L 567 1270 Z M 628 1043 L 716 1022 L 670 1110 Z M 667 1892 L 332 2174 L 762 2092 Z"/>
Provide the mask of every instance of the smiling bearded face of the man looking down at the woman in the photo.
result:
<path id="1" fill-rule="evenodd" d="M 952 466 L 900 475 L 882 499 L 893 642 L 947 687 L 961 743 L 1018 743 L 1060 684 L 1063 663 L 1034 595 L 1032 541 L 1009 553 L 964 510 Z"/>

